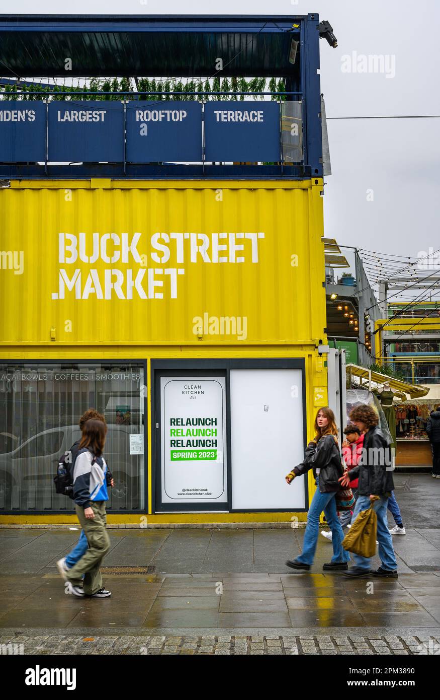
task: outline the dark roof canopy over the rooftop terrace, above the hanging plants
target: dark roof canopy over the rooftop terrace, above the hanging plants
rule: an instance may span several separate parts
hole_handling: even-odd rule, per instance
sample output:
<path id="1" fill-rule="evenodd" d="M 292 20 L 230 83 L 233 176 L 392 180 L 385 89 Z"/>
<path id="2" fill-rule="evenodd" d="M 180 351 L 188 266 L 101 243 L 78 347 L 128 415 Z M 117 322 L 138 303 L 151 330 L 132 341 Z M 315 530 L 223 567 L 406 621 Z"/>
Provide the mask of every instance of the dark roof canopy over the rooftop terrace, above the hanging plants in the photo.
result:
<path id="1" fill-rule="evenodd" d="M 318 15 L 0 15 L 0 74 L 292 76 L 299 71 L 292 40 L 301 41 L 301 20 L 316 31 L 314 18 Z"/>

